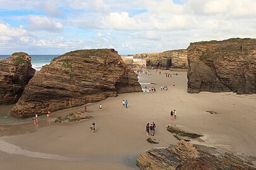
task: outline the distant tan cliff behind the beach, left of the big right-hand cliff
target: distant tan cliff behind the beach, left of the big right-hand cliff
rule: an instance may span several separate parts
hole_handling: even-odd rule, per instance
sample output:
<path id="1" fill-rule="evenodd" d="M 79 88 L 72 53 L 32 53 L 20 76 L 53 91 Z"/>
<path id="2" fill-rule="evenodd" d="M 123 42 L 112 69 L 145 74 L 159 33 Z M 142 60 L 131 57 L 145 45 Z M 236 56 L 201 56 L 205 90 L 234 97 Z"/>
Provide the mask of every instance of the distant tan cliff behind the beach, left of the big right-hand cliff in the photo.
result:
<path id="1" fill-rule="evenodd" d="M 188 67 L 186 50 L 169 50 L 159 54 L 149 55 L 146 62 L 147 66 L 155 69 L 186 69 Z"/>

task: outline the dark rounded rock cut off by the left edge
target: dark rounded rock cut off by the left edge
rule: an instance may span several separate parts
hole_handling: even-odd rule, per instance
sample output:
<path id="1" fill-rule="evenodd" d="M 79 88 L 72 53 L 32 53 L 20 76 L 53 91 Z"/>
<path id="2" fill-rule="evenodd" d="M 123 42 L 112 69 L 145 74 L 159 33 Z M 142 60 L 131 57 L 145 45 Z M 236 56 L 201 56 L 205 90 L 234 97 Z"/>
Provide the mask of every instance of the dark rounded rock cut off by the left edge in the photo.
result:
<path id="1" fill-rule="evenodd" d="M 7 59 L 0 59 L 0 104 L 18 101 L 35 74 L 30 61 L 30 56 L 24 52 L 16 52 Z"/>

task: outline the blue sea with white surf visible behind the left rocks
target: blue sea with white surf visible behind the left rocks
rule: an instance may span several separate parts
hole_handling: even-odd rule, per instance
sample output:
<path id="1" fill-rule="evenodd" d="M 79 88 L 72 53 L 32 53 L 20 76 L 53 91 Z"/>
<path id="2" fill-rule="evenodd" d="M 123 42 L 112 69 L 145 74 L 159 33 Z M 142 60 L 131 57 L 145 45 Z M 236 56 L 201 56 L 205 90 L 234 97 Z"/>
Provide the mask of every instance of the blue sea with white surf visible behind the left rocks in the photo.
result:
<path id="1" fill-rule="evenodd" d="M 51 60 L 59 55 L 30 55 L 32 67 L 36 71 L 40 71 L 42 66 L 50 64 Z M 0 59 L 6 59 L 9 55 L 0 55 Z"/>

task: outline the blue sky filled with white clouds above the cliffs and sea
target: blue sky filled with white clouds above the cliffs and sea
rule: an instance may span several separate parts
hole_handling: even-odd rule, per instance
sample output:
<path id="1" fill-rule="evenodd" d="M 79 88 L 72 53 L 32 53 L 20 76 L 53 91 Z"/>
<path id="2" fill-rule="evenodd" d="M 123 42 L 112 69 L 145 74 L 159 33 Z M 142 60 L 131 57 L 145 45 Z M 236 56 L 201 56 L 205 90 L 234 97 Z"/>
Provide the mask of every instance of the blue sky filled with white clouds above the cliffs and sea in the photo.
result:
<path id="1" fill-rule="evenodd" d="M 0 54 L 119 54 L 256 38 L 256 0 L 0 0 Z"/>

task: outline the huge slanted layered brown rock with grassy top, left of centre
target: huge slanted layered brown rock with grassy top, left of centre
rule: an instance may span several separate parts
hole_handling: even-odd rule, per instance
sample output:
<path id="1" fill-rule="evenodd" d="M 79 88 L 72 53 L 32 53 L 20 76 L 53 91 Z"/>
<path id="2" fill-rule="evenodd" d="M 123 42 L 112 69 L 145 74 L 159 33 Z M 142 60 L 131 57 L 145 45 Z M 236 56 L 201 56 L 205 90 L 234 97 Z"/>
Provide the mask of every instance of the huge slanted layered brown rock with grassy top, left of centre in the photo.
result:
<path id="1" fill-rule="evenodd" d="M 113 49 L 76 50 L 45 65 L 30 80 L 11 110 L 15 117 L 45 114 L 142 91 L 137 74 Z"/>

